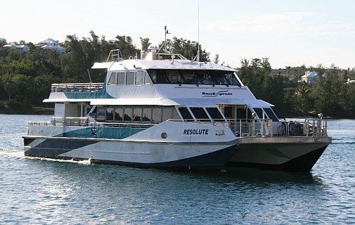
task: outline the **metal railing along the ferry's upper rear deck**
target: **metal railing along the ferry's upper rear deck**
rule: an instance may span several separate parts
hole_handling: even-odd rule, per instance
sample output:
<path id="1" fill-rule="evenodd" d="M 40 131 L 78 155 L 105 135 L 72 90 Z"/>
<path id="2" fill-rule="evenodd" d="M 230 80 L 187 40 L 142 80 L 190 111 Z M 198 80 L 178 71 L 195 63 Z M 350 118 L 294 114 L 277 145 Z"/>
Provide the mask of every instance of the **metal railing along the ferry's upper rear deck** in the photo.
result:
<path id="1" fill-rule="evenodd" d="M 51 92 L 100 92 L 103 83 L 52 84 Z"/>

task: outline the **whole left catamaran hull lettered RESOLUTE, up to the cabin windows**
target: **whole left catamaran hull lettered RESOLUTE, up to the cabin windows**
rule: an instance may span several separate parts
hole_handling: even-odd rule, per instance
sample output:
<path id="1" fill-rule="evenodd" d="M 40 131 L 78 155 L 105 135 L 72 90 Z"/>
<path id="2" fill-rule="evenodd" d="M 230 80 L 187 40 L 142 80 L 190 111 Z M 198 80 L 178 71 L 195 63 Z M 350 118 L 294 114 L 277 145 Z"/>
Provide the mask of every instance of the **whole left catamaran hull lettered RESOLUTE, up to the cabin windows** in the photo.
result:
<path id="1" fill-rule="evenodd" d="M 98 132 L 96 136 L 103 134 L 103 136 L 119 137 L 124 132 L 133 135 L 124 139 L 89 137 L 92 135 L 92 129 Z M 164 122 L 150 129 L 138 131 L 134 131 L 132 128 L 124 130 L 107 127 L 101 129 L 98 127 L 66 127 L 63 133 L 63 127 L 53 129 L 53 127 L 35 126 L 30 128 L 31 134 L 47 131 L 50 136 L 43 136 L 43 134 L 42 136 L 24 136 L 25 155 L 91 160 L 91 162 L 97 163 L 137 167 L 222 169 L 234 152 L 234 143 L 214 141 L 216 139 L 215 129 L 222 128 L 203 124 L 190 124 L 186 127 L 186 124 L 181 122 Z M 167 135 L 165 139 L 161 137 L 162 130 Z M 210 140 L 212 141 L 201 142 L 201 135 L 188 135 L 188 131 L 191 131 L 191 134 L 192 131 L 205 133 L 205 136 L 211 136 Z M 77 136 L 82 137 L 78 138 Z M 149 139 L 153 141 L 149 141 Z"/>

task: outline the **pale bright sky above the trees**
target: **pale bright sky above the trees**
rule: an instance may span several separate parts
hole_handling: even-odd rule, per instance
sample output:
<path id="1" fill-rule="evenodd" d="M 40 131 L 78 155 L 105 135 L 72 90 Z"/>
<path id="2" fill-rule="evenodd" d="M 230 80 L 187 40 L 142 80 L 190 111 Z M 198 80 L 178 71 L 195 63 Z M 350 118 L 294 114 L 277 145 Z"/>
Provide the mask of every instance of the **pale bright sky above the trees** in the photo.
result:
<path id="1" fill-rule="evenodd" d="M 38 43 L 67 35 L 199 41 L 219 63 L 269 58 L 272 68 L 355 68 L 353 0 L 0 0 L 0 38 Z M 138 54 L 139 55 L 139 54 Z"/>

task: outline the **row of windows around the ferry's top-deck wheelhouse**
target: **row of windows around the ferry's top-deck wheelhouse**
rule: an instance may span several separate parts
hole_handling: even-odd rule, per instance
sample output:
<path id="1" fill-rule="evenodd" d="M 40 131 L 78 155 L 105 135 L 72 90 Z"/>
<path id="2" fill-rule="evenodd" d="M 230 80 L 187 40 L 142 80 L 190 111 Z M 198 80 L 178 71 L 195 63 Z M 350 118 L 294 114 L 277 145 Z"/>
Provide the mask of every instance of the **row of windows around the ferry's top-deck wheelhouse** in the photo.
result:
<path id="1" fill-rule="evenodd" d="M 112 72 L 108 80 L 108 85 L 151 84 L 151 82 L 154 84 L 241 85 L 234 73 L 228 71 L 147 70 L 147 72 Z"/>

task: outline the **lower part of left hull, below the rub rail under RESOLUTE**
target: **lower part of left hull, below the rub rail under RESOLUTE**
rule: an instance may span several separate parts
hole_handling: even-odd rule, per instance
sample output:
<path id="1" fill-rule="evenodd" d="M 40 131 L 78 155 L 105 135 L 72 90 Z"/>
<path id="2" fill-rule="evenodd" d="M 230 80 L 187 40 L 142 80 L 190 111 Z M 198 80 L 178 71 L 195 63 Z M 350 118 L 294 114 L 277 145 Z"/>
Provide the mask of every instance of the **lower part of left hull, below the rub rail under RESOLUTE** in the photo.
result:
<path id="1" fill-rule="evenodd" d="M 233 144 L 24 136 L 25 155 L 179 170 L 221 170 Z"/>

